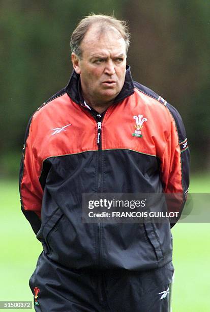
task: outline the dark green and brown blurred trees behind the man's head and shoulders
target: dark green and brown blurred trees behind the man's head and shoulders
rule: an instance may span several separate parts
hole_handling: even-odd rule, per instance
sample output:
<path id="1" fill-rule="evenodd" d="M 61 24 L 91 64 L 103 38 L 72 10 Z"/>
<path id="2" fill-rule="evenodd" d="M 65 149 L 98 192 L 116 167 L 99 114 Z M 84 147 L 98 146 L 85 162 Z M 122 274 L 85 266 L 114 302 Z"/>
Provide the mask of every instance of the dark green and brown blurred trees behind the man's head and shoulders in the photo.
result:
<path id="1" fill-rule="evenodd" d="M 179 109 L 188 130 L 193 165 L 202 154 L 202 166 L 197 164 L 197 168 L 207 168 L 210 151 L 206 148 L 202 153 L 199 145 L 200 141 L 207 143 L 209 133 L 207 2 L 0 0 L 0 5 L 1 174 L 16 174 L 27 120 L 67 84 L 72 71 L 70 34 L 77 22 L 91 12 L 113 11 L 130 24 L 128 63 L 134 79 Z"/>

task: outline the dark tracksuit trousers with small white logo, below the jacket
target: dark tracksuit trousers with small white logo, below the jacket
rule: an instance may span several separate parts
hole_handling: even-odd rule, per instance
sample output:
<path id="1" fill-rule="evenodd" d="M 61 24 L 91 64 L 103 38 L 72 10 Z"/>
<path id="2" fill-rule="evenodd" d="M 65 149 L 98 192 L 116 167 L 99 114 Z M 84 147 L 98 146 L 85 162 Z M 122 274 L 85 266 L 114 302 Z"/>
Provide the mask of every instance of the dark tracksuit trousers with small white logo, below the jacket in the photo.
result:
<path id="1" fill-rule="evenodd" d="M 29 285 L 37 312 L 168 312 L 173 271 L 69 270 L 42 253 Z"/>

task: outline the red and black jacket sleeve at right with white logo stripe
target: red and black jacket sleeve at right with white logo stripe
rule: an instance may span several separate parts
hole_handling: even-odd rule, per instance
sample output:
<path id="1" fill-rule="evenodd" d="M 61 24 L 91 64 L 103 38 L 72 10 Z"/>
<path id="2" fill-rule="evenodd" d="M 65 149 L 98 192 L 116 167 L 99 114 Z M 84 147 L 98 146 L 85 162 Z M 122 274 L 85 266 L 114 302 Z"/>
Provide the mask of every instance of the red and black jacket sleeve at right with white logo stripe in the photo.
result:
<path id="1" fill-rule="evenodd" d="M 190 152 L 185 127 L 177 110 L 167 103 L 171 117 L 171 131 L 161 159 L 161 180 L 166 193 L 168 212 L 176 212 L 171 227 L 181 217 L 189 189 Z"/>

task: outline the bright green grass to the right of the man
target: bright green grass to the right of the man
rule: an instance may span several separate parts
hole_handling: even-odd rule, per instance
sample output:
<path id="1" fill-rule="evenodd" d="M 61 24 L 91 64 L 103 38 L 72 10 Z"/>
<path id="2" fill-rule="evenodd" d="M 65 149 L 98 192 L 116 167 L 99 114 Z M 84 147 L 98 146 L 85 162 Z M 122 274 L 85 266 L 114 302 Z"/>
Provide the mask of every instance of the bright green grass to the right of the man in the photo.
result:
<path id="1" fill-rule="evenodd" d="M 192 176 L 190 192 L 210 193 L 210 175 Z M 175 267 L 173 312 L 208 312 L 210 307 L 209 223 L 177 224 L 172 228 L 172 235 Z"/>

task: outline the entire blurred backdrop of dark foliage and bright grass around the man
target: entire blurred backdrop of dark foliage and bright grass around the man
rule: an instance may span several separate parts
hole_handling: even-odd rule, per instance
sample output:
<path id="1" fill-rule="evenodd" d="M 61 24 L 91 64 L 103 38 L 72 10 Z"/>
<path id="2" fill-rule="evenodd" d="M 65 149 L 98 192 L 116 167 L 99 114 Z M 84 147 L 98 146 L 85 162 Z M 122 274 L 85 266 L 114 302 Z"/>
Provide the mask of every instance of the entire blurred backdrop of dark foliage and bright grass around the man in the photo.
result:
<path id="1" fill-rule="evenodd" d="M 190 192 L 209 193 L 209 1 L 0 0 L 0 300 L 33 300 L 28 279 L 41 244 L 20 211 L 17 185 L 25 127 L 67 84 L 70 34 L 91 12 L 128 21 L 133 78 L 181 113 L 191 150 Z M 177 224 L 172 233 L 173 312 L 209 311 L 209 224 Z"/>

